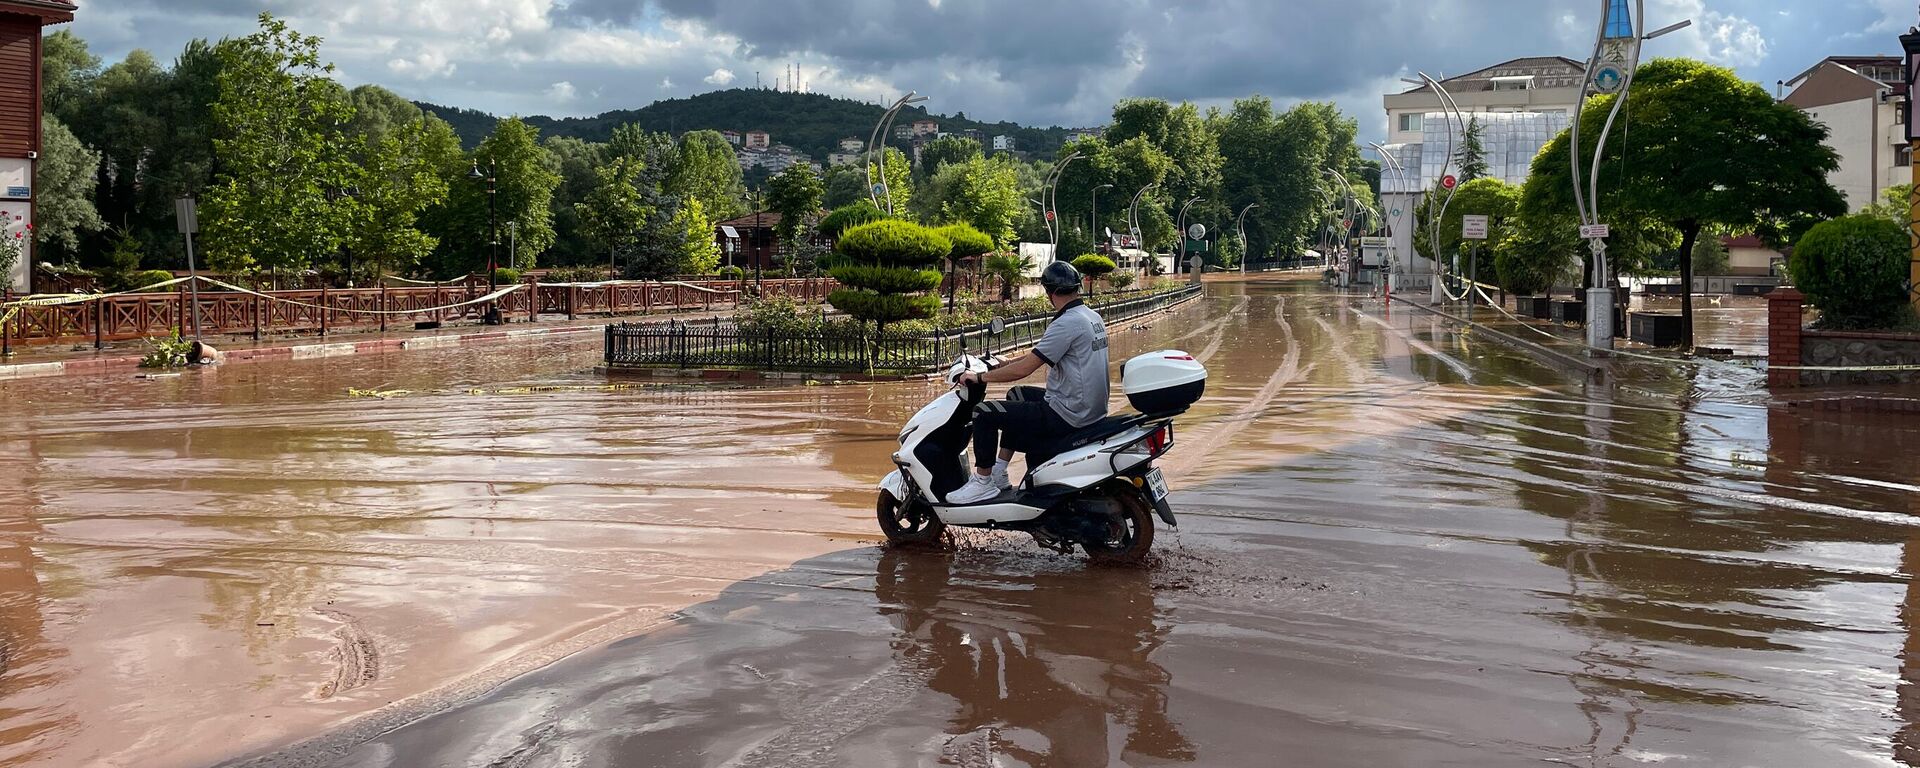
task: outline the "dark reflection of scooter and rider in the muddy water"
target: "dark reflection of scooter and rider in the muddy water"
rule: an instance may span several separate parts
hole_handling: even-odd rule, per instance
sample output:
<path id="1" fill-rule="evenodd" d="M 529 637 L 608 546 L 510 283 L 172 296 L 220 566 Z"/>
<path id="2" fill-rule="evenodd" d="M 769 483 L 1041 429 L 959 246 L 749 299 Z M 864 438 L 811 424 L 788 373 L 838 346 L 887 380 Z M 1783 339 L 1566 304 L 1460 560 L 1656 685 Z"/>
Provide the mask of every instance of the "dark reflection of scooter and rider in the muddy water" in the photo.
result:
<path id="1" fill-rule="evenodd" d="M 958 557 L 968 563 L 889 551 L 876 580 L 879 612 L 899 628 L 895 657 L 925 666 L 927 687 L 954 701 L 947 758 L 1194 760 L 1167 716 L 1167 670 L 1152 660 L 1167 616 L 1146 570 L 996 570 L 981 564 L 1012 555 Z"/>

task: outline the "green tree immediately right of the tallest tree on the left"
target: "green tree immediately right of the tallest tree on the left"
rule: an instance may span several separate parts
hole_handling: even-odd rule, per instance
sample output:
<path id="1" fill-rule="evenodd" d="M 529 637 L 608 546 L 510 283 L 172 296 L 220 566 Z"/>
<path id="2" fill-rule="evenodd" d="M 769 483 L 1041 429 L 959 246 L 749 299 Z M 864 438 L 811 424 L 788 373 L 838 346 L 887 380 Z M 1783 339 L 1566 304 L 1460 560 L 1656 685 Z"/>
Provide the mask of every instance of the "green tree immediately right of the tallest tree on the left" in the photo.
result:
<path id="1" fill-rule="evenodd" d="M 420 230 L 420 213 L 447 200 L 445 163 L 447 156 L 459 156 L 459 142 L 453 127 L 432 115 L 390 127 L 371 142 L 355 194 L 342 202 L 348 223 L 342 244 L 353 253 L 355 271 L 372 267 L 376 278 L 409 275 L 440 246 Z"/>

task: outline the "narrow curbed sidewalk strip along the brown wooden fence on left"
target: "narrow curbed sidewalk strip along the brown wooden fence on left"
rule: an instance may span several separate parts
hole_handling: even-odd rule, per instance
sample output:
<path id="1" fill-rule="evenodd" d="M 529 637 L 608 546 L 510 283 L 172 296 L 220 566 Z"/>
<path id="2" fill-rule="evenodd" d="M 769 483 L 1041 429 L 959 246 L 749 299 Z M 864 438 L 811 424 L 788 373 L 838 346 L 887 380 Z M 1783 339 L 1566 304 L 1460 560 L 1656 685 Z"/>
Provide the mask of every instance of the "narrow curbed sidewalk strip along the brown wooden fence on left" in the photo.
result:
<path id="1" fill-rule="evenodd" d="M 685 311 L 628 317 L 593 317 L 578 321 L 509 323 L 499 326 L 472 324 L 438 330 L 388 330 L 388 332 L 342 332 L 328 336 L 296 336 L 278 340 L 244 340 L 234 336 L 213 336 L 209 344 L 225 355 L 221 365 L 321 359 L 367 355 L 396 349 L 442 349 L 457 346 L 488 346 L 536 336 L 580 336 L 597 334 L 611 323 L 687 323 L 730 317 L 724 311 Z M 104 349 L 73 349 L 65 346 L 13 349 L 15 355 L 0 363 L 0 382 L 15 378 L 75 376 L 98 372 L 132 372 L 140 369 L 146 355 L 146 342 L 115 342 Z"/>

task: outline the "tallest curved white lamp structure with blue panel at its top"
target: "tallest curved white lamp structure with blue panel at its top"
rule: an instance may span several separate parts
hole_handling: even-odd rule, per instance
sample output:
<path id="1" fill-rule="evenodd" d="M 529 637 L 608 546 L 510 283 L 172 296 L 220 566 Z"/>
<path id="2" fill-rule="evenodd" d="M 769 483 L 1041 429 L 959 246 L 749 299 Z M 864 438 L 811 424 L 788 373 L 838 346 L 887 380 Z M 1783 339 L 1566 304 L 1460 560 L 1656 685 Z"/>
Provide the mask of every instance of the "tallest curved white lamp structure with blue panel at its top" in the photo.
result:
<path id="1" fill-rule="evenodd" d="M 1617 19 L 1615 12 L 1626 13 L 1626 0 L 1599 0 L 1599 35 L 1594 40 L 1594 56 L 1586 60 L 1586 75 L 1580 79 L 1580 100 L 1574 102 L 1572 127 L 1569 127 L 1567 159 L 1572 163 L 1572 200 L 1580 209 L 1580 236 L 1594 252 L 1594 286 L 1586 290 L 1586 348 L 1592 357 L 1613 353 L 1613 305 L 1619 294 L 1609 286 L 1607 276 L 1607 232 L 1599 219 L 1599 161 L 1607 154 L 1607 136 L 1613 123 L 1626 109 L 1626 92 L 1634 86 L 1634 71 L 1640 69 L 1640 46 L 1661 35 L 1676 33 L 1693 21 L 1682 21 L 1645 35 L 1647 0 L 1634 0 L 1634 15 Z M 1624 23 L 1620 23 L 1624 21 Z M 1588 96 L 1615 94 L 1607 123 L 1599 129 L 1594 144 L 1592 173 L 1580 175 L 1580 123 L 1586 113 Z M 1582 188 L 1584 186 L 1584 188 Z M 1680 255 L 1682 259 L 1686 253 Z"/>

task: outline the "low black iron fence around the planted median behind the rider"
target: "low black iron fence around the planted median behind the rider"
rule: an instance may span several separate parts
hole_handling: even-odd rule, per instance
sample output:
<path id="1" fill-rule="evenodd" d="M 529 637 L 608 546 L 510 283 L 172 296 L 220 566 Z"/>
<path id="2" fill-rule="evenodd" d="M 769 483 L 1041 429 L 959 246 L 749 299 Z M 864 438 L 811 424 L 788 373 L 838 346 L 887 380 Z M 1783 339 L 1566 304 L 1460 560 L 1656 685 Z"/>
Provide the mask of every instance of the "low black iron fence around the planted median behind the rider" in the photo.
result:
<path id="1" fill-rule="evenodd" d="M 1165 311 L 1200 296 L 1200 286 L 1102 296 L 1092 307 L 1108 324 Z M 856 328 L 774 330 L 733 321 L 607 326 L 609 367 L 755 369 L 808 372 L 924 372 L 947 367 L 962 351 L 1023 349 L 1046 334 L 1052 315 L 1006 319 L 931 334 Z"/>

